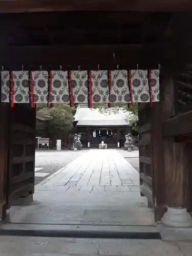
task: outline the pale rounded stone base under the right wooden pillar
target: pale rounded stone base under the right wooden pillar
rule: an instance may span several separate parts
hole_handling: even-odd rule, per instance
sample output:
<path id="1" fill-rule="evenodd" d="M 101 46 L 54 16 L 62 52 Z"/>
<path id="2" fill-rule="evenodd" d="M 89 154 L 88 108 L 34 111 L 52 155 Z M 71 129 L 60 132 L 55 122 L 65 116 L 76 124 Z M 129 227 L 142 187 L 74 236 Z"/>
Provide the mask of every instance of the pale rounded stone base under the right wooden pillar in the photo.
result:
<path id="1" fill-rule="evenodd" d="M 172 227 L 190 227 L 192 218 L 186 208 L 167 208 L 161 222 Z"/>

